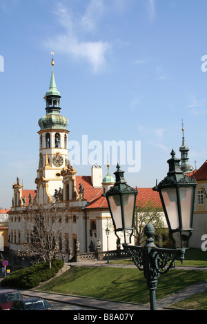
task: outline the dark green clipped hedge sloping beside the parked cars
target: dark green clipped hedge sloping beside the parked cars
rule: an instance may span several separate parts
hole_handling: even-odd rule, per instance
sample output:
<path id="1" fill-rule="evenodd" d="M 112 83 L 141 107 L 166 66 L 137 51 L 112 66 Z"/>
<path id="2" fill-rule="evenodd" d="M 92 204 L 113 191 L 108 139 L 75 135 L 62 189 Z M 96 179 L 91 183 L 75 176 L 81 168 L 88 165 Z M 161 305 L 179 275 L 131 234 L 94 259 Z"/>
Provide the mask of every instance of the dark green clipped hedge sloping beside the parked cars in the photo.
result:
<path id="1" fill-rule="evenodd" d="M 37 263 L 37 265 L 12 272 L 1 280 L 0 285 L 1 287 L 31 289 L 55 276 L 63 264 L 62 260 L 53 259 L 52 267 L 49 269 L 48 262 Z"/>

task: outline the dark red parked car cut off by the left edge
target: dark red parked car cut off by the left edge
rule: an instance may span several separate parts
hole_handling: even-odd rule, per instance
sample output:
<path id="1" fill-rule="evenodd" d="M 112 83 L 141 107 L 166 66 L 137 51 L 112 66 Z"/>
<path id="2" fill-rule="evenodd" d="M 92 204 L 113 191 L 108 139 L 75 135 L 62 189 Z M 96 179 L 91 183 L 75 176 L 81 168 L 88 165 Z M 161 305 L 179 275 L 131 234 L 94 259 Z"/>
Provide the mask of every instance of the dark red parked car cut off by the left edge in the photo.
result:
<path id="1" fill-rule="evenodd" d="M 0 310 L 10 310 L 13 301 L 22 299 L 23 296 L 14 289 L 0 290 Z"/>

